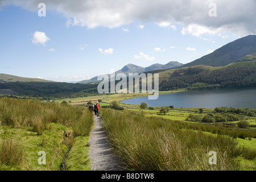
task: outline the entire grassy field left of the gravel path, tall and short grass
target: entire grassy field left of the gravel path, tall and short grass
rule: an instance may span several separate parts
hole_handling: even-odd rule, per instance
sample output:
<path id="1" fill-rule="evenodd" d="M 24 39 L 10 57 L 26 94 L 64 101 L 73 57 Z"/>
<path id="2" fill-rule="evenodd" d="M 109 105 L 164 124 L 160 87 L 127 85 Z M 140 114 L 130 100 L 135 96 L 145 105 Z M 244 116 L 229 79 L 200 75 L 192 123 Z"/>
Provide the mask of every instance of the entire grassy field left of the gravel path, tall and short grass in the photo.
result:
<path id="1" fill-rule="evenodd" d="M 88 170 L 92 126 L 84 107 L 1 98 L 0 170 Z"/>

